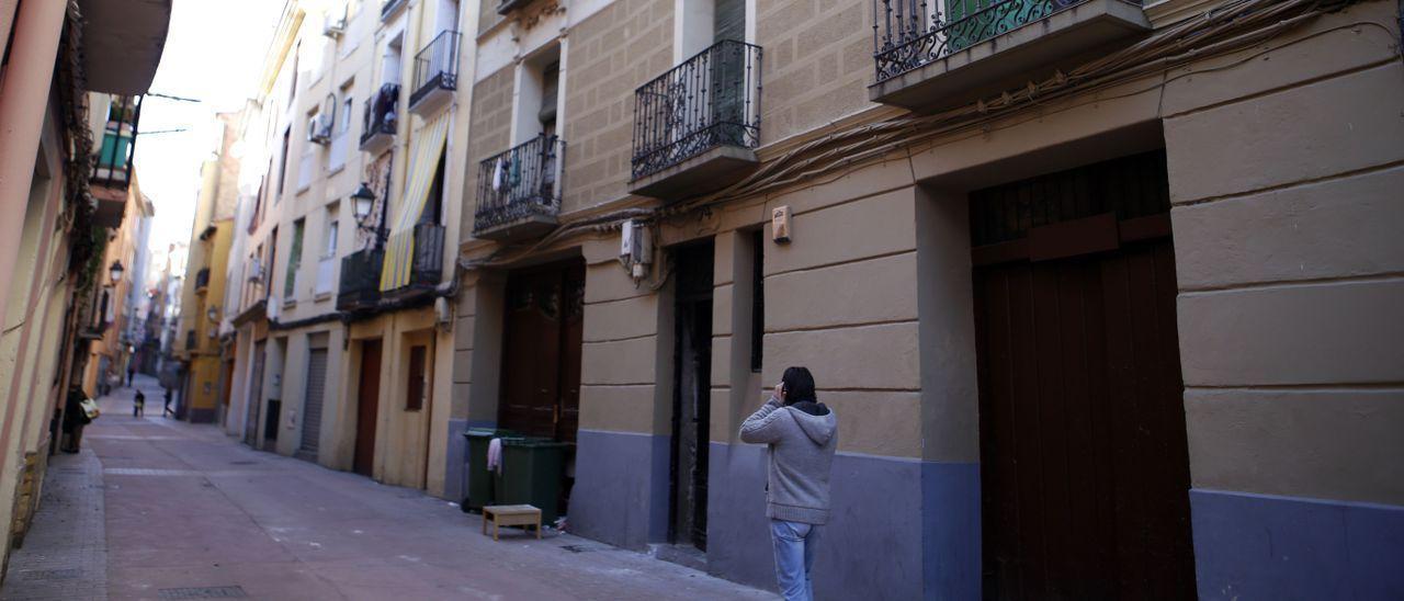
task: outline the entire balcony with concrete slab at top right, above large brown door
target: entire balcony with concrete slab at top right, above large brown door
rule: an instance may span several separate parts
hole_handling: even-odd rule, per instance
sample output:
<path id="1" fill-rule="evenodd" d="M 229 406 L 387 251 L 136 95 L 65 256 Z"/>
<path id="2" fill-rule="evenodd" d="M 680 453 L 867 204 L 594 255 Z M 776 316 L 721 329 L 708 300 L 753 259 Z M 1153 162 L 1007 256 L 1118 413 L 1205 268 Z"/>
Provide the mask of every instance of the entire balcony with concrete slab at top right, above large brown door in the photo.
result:
<path id="1" fill-rule="evenodd" d="M 929 112 L 1052 76 L 1150 31 L 1125 0 L 873 0 L 875 103 Z M 879 37 L 880 32 L 880 37 Z"/>

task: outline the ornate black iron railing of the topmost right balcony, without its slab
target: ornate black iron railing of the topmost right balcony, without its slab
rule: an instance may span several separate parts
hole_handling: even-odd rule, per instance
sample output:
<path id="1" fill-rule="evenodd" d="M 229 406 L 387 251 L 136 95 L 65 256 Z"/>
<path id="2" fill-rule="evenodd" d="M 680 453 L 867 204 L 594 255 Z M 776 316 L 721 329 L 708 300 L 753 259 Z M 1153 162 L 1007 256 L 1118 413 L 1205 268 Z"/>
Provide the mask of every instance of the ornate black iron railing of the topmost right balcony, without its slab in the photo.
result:
<path id="1" fill-rule="evenodd" d="M 945 11 L 936 1 L 928 7 L 928 0 L 873 0 L 878 83 L 1085 0 L 946 0 Z"/>

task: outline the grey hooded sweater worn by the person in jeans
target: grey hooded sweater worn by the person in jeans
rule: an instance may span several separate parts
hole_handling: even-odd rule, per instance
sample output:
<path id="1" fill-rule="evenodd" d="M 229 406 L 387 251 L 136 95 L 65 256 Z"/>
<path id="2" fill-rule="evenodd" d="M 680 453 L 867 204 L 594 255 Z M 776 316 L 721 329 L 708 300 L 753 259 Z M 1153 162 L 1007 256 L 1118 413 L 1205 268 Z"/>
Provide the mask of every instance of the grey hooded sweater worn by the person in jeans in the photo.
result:
<path id="1" fill-rule="evenodd" d="M 828 521 L 828 472 L 838 418 L 823 403 L 782 406 L 774 396 L 741 424 L 741 441 L 771 447 L 765 515 L 802 524 Z"/>

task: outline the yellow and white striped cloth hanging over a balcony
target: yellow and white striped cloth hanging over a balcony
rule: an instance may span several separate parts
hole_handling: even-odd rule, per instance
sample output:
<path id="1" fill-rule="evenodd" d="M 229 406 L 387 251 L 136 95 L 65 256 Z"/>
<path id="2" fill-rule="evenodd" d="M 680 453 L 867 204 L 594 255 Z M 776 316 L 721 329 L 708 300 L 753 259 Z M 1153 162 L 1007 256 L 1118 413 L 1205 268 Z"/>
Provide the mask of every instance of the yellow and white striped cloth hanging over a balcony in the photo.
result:
<path id="1" fill-rule="evenodd" d="M 385 268 L 380 270 L 380 292 L 410 284 L 414 267 L 414 225 L 434 187 L 438 159 L 448 138 L 448 112 L 441 112 L 420 128 L 410 143 L 410 169 L 404 181 L 404 202 L 390 222 L 390 239 L 385 246 Z"/>

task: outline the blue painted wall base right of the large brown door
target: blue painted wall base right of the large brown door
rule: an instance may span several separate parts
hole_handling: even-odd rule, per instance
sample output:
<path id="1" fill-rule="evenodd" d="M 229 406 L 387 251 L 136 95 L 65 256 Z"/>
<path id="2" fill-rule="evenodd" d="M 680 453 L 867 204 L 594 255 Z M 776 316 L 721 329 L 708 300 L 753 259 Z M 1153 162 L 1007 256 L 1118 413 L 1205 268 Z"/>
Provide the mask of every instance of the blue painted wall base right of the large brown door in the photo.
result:
<path id="1" fill-rule="evenodd" d="M 1189 507 L 1199 598 L 1404 598 L 1404 507 L 1207 489 Z"/>

